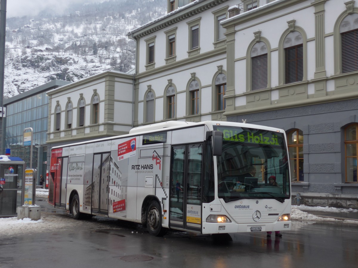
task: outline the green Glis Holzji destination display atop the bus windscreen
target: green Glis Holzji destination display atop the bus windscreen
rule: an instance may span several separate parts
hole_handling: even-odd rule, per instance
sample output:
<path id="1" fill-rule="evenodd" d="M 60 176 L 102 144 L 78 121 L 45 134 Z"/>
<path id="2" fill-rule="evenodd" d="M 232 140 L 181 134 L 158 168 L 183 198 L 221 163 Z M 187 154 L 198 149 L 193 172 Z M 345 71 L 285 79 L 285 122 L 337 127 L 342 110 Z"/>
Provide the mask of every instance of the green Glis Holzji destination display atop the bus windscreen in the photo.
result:
<path id="1" fill-rule="evenodd" d="M 261 129 L 242 129 L 230 126 L 216 126 L 216 129 L 222 131 L 223 140 L 226 142 L 280 145 L 279 140 L 283 139 L 283 133 Z"/>

